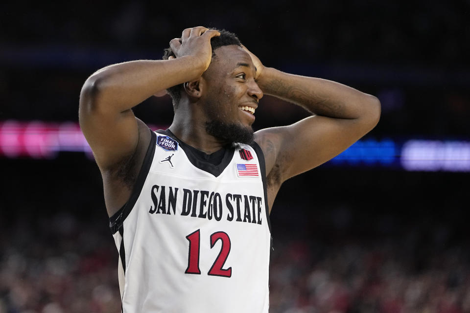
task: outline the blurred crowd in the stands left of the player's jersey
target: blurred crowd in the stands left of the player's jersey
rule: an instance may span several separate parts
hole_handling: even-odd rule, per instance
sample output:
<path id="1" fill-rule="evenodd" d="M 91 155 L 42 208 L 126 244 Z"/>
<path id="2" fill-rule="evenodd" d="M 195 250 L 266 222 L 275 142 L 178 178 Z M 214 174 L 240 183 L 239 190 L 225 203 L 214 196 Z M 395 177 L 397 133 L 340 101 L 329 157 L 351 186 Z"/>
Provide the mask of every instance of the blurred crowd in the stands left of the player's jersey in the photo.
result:
<path id="1" fill-rule="evenodd" d="M 106 230 L 106 221 L 70 215 L 2 229 L 0 313 L 120 312 L 117 250 Z"/>

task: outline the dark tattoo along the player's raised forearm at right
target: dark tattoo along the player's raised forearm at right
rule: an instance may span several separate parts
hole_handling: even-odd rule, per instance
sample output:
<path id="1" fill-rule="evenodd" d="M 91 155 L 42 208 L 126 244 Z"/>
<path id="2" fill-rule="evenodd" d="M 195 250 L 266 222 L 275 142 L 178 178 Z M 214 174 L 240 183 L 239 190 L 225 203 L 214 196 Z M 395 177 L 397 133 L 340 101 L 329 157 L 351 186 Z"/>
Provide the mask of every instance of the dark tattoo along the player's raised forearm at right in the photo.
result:
<path id="1" fill-rule="evenodd" d="M 343 111 L 341 103 L 331 102 L 328 98 L 315 93 L 314 90 L 288 85 L 280 79 L 274 79 L 269 83 L 269 93 L 298 104 L 313 114 L 334 117 Z"/>

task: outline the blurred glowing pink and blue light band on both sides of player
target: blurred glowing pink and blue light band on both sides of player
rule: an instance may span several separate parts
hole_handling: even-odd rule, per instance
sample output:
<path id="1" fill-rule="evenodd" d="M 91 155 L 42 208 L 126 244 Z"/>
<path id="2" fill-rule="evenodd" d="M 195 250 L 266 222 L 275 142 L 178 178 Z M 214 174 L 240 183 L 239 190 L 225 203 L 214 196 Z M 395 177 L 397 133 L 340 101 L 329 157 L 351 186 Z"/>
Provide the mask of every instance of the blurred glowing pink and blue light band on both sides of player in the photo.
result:
<path id="1" fill-rule="evenodd" d="M 153 130 L 164 129 L 150 125 Z M 400 167 L 406 171 L 470 172 L 470 141 L 362 139 L 331 159 L 329 166 Z M 93 158 L 78 123 L 0 122 L 0 156 L 53 159 L 59 152 Z"/>

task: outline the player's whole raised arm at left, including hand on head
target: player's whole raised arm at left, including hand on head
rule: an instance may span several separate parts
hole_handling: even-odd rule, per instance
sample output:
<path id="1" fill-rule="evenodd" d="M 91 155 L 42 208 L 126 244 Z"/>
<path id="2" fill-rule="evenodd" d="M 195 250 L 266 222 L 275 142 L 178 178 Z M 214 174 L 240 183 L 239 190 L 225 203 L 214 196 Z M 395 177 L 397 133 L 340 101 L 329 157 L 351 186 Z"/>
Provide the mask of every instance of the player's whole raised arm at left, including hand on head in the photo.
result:
<path id="1" fill-rule="evenodd" d="M 115 64 L 86 80 L 80 93 L 80 127 L 101 170 L 137 149 L 139 122 L 131 108 L 162 90 L 199 78 L 211 62 L 210 40 L 218 34 L 205 27 L 185 29 L 181 43 L 170 42 L 178 58 Z"/>

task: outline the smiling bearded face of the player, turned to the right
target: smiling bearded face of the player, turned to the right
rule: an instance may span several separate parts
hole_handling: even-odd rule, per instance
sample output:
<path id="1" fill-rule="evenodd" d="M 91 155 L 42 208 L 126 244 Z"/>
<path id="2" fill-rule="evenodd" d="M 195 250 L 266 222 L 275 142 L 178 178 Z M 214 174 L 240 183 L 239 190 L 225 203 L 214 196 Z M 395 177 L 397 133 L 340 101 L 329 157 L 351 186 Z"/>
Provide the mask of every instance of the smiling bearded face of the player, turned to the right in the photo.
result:
<path id="1" fill-rule="evenodd" d="M 219 47 L 215 55 L 203 74 L 206 92 L 200 99 L 208 117 L 206 131 L 224 141 L 249 143 L 253 141 L 253 113 L 263 96 L 255 82 L 256 68 L 237 45 Z"/>

